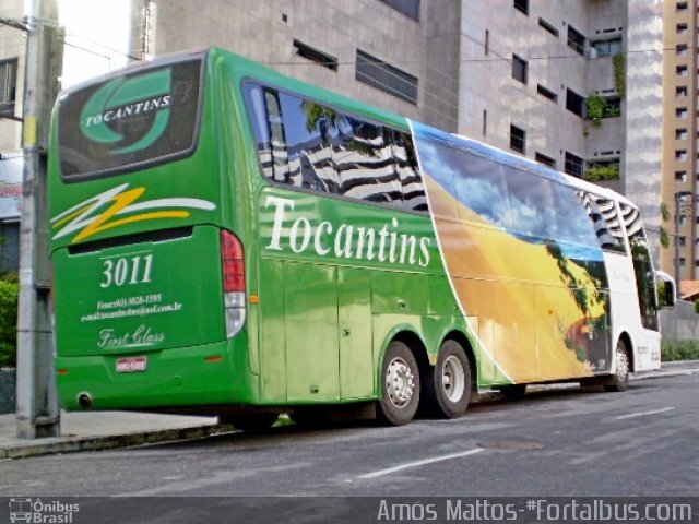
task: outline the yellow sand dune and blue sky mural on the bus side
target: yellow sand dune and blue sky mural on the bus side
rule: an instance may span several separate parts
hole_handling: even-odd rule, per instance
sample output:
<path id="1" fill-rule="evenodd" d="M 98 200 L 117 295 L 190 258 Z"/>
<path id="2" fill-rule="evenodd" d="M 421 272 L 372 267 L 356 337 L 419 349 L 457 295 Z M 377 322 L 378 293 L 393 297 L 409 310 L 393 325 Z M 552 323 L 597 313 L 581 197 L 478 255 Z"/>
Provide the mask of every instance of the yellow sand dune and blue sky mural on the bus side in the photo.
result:
<path id="1" fill-rule="evenodd" d="M 554 170 L 411 124 L 445 270 L 494 362 L 482 374 L 608 371 L 608 285 L 585 195 Z"/>

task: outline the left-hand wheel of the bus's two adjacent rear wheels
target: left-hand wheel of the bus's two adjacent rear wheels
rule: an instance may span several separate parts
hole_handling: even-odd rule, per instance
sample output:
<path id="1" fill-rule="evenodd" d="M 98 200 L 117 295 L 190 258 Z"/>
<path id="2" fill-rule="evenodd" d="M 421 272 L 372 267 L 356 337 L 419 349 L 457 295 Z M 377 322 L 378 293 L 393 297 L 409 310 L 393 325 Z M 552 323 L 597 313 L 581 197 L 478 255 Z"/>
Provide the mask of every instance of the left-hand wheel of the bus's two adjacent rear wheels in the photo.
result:
<path id="1" fill-rule="evenodd" d="M 381 367 L 379 420 L 402 426 L 410 422 L 419 404 L 419 369 L 410 347 L 400 341 L 389 345 Z"/>

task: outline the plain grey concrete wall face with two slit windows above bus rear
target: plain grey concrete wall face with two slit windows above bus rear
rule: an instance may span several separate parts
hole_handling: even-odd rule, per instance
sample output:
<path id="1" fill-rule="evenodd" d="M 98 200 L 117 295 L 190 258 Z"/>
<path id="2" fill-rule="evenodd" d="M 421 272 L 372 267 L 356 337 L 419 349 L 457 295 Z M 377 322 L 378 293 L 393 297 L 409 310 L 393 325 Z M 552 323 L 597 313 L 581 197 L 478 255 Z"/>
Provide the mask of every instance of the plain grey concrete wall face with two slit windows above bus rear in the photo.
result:
<path id="1" fill-rule="evenodd" d="M 423 12 L 425 4 L 423 1 Z M 420 106 L 355 81 L 356 50 L 419 79 L 426 60 L 419 24 L 377 1 L 209 0 L 206 9 L 190 0 L 157 2 L 156 55 L 220 46 L 296 79 L 360 100 L 420 118 Z M 294 38 L 339 60 L 331 71 L 295 53 Z"/>

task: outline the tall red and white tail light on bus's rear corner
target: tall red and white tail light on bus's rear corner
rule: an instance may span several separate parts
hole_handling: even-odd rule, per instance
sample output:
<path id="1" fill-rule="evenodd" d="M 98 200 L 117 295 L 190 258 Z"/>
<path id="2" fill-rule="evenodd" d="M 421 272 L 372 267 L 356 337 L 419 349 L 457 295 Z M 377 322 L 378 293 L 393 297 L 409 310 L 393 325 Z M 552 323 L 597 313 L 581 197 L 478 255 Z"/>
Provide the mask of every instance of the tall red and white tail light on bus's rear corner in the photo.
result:
<path id="1" fill-rule="evenodd" d="M 240 240 L 225 229 L 221 230 L 221 262 L 226 336 L 232 338 L 245 323 L 245 259 Z"/>

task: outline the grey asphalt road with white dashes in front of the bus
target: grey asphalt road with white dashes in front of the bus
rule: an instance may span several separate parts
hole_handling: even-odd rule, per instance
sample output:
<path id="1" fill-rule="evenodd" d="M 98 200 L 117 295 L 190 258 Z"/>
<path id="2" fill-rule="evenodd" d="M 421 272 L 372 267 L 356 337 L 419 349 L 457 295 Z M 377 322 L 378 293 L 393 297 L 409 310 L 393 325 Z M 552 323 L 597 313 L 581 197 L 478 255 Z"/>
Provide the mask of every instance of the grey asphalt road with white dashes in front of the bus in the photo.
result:
<path id="1" fill-rule="evenodd" d="M 530 393 L 458 420 L 228 433 L 0 462 L 0 497 L 697 496 L 699 373 Z"/>

